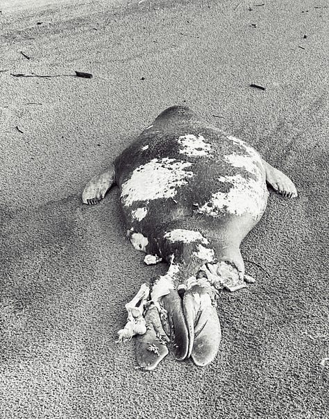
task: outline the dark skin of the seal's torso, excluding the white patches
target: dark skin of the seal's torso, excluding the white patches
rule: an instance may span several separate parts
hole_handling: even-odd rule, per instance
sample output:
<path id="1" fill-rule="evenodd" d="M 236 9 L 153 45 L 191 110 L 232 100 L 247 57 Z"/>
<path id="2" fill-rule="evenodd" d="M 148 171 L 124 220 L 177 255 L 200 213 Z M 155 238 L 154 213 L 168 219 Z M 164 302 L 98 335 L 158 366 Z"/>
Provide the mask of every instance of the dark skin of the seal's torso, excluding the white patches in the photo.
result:
<path id="1" fill-rule="evenodd" d="M 201 156 L 180 153 L 183 147 L 177 139 L 186 135 L 194 135 L 196 138 L 202 136 L 206 144 L 210 144 L 210 151 L 206 151 L 206 154 Z M 233 153 L 246 156 L 246 149 L 239 142 L 228 139 L 216 128 L 201 122 L 189 108 L 174 107 L 162 112 L 152 123 L 151 128 L 144 130 L 135 142 L 117 157 L 115 173 L 117 185 L 120 188 L 131 178 L 134 171 L 154 158 L 159 160 L 160 166 L 162 166 L 162 159 L 173 159 L 174 162 L 191 164 L 184 167 L 183 171 L 193 173 L 193 176 L 187 175 L 185 178 L 187 182 L 180 187 L 169 186 L 171 189 L 176 189 L 176 194 L 171 198 L 157 198 L 147 203 L 145 200 L 135 200 L 132 205 L 127 206 L 125 196 L 121 195 L 121 207 L 126 225 L 128 228 L 133 228 L 133 232 L 140 232 L 149 240 L 146 253 L 159 254 L 165 259 L 177 253 L 186 258 L 186 255 L 181 255 L 181 252 L 177 251 L 178 247 L 183 246 L 181 242 L 171 243 L 163 239 L 165 232 L 176 228 L 201 232 L 203 237 L 211 242 L 209 246 L 216 247 L 219 258 L 227 246 L 235 248 L 239 253 L 239 244 L 242 239 L 258 223 L 265 210 L 268 193 L 265 170 L 260 157 L 255 162 L 260 177 L 257 179 L 255 173 L 251 173 L 244 167 L 234 167 L 224 159 L 225 155 Z M 210 203 L 212 194 L 218 191 L 227 193 L 233 186 L 231 182 L 221 182 L 219 179 L 223 175 L 235 176 L 237 174 L 247 181 L 260 182 L 262 202 L 258 213 L 252 216 L 249 212 L 245 212 L 244 216 L 239 216 L 225 208 L 219 212 L 219 216 L 206 216 L 200 212 L 200 207 Z M 140 207 L 146 207 L 147 214 L 139 221 L 135 219 L 133 212 Z M 186 262 L 185 259 L 185 264 Z M 193 272 L 187 273 L 189 274 L 192 275 Z"/>

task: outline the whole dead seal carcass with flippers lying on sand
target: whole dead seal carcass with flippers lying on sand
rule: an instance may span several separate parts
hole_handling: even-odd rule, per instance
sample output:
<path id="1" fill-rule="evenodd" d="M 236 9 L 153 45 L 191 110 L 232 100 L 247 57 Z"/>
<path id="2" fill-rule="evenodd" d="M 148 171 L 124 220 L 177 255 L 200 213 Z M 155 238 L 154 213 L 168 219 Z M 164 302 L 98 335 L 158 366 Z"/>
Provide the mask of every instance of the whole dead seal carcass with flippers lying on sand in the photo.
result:
<path id="1" fill-rule="evenodd" d="M 114 184 L 130 242 L 146 264 L 169 264 L 128 302 L 119 341 L 137 335 L 137 363 L 167 355 L 210 363 L 219 350 L 218 290 L 254 282 L 239 246 L 267 206 L 267 183 L 297 196 L 293 182 L 241 139 L 208 126 L 187 107 L 162 112 L 115 162 L 87 183 L 96 204 Z"/>

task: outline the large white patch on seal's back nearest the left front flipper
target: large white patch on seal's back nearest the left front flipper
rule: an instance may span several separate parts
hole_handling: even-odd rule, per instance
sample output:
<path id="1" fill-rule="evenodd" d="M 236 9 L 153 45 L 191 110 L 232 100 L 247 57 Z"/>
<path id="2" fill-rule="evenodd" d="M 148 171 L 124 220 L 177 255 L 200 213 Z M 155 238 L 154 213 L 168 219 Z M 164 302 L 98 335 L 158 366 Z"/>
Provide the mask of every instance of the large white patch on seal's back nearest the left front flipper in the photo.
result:
<path id="1" fill-rule="evenodd" d="M 121 187 L 121 200 L 127 207 L 137 200 L 174 198 L 176 188 L 186 185 L 192 178 L 192 171 L 184 169 L 192 166 L 190 162 L 169 159 L 153 159 L 135 169 Z"/>

